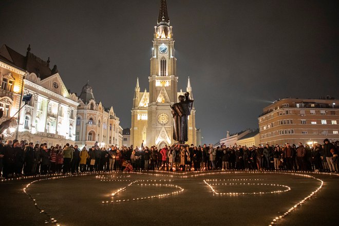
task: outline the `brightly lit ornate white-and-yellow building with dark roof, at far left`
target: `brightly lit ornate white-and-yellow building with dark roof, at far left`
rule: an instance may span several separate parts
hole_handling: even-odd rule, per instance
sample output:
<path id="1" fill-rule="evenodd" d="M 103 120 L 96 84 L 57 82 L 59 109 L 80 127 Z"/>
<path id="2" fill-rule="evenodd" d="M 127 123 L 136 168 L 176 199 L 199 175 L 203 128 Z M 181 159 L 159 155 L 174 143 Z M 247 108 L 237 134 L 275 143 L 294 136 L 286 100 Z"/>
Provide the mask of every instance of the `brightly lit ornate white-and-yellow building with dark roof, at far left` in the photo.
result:
<path id="1" fill-rule="evenodd" d="M 78 98 L 69 93 L 58 69 L 27 49 L 26 56 L 6 45 L 0 48 L 2 97 L 5 118 L 19 109 L 21 94 L 31 94 L 31 101 L 21 110 L 20 120 L 13 120 L 9 130 L 16 131 L 8 139 L 33 143 L 74 144 Z M 23 90 L 22 90 L 23 89 Z M 2 101 L 3 100 L 3 101 Z M 18 114 L 19 115 L 19 114 Z M 18 119 L 18 115 L 14 119 Z M 14 129 L 13 129 L 14 128 Z M 8 135 L 8 134 L 7 134 Z"/>

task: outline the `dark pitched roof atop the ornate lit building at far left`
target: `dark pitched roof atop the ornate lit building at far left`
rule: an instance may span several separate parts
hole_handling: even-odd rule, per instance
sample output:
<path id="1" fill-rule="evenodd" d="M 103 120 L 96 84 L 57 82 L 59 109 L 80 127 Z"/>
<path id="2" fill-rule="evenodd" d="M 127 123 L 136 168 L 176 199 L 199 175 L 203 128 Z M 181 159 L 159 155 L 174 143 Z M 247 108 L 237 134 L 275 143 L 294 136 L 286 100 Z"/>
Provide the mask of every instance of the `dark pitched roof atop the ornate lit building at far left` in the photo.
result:
<path id="1" fill-rule="evenodd" d="M 41 78 L 41 80 L 46 79 L 55 73 L 58 73 L 58 69 L 56 69 L 56 66 L 54 66 L 56 70 L 54 70 L 53 72 L 49 68 L 49 59 L 47 61 L 44 61 L 35 56 L 30 51 L 31 48 L 29 45 L 27 48 L 26 56 L 24 56 L 9 48 L 7 45 L 3 45 L 0 48 L 0 60 L 23 71 L 27 70 L 30 73 L 35 73 L 37 77 Z"/>

